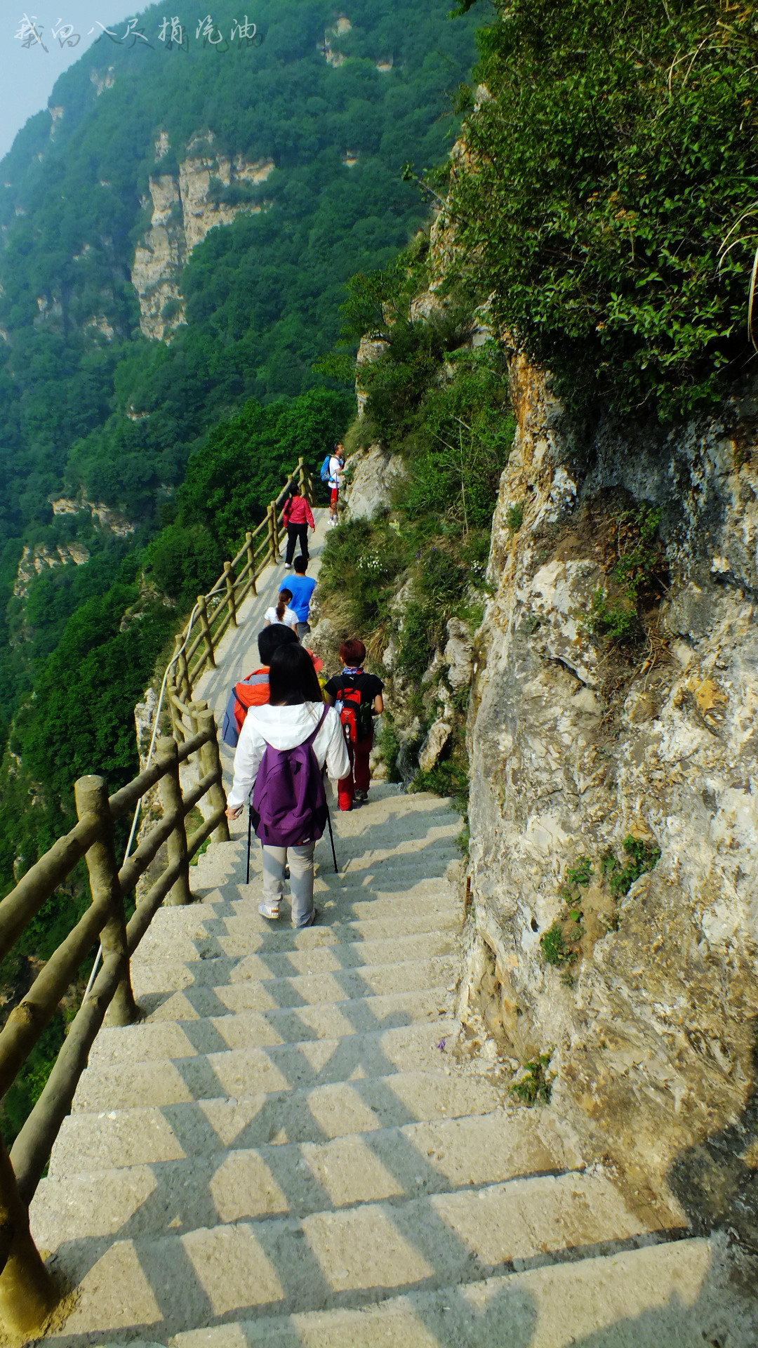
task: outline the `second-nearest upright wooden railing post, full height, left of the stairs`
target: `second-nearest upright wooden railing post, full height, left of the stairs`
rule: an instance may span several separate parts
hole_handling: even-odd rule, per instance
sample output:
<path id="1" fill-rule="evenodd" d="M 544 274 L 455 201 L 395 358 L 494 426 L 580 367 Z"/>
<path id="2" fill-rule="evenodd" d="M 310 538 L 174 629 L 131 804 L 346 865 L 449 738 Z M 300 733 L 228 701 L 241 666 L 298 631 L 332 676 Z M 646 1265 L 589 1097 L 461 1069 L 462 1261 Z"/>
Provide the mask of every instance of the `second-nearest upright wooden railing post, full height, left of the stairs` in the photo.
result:
<path id="1" fill-rule="evenodd" d="M 175 741 L 171 740 L 171 743 L 174 744 Z M 108 1023 L 132 1024 L 138 1019 L 139 1012 L 129 975 L 124 899 L 121 896 L 119 863 L 116 861 L 116 848 L 113 845 L 113 821 L 108 805 L 108 787 L 101 776 L 80 776 L 74 786 L 74 799 L 77 802 L 78 818 L 84 820 L 85 814 L 94 814 L 103 828 L 100 838 L 92 844 L 86 853 L 86 868 L 89 871 L 92 902 L 103 903 L 111 914 L 100 933 L 103 958 L 107 960 L 108 956 L 112 956 L 121 967 L 119 985 L 108 1008 Z"/>

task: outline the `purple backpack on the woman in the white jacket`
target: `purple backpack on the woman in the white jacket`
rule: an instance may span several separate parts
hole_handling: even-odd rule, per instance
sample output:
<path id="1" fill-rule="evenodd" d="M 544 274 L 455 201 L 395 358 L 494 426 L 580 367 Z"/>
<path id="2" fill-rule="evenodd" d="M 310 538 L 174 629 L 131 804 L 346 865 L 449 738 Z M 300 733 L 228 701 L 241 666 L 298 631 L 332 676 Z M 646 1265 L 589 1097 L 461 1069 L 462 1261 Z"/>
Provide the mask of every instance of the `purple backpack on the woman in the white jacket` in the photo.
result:
<path id="1" fill-rule="evenodd" d="M 270 847 L 302 847 L 316 842 L 326 828 L 326 793 L 313 741 L 329 708 L 302 744 L 263 751 L 252 789 L 250 811 L 260 841 Z"/>

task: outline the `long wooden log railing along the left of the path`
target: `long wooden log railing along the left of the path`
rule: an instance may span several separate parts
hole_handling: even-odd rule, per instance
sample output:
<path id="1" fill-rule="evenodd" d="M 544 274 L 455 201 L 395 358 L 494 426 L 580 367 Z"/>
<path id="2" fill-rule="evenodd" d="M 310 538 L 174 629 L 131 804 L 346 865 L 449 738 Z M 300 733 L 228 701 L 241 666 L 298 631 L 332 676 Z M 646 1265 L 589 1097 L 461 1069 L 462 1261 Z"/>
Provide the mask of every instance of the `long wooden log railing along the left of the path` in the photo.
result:
<path id="1" fill-rule="evenodd" d="M 295 474 L 310 500 L 312 480 L 302 458 Z M 189 864 L 205 840 L 229 837 L 216 721 L 206 702 L 193 701 L 192 690 L 206 665 L 214 665 L 221 636 L 229 624 L 237 623 L 239 605 L 247 594 L 256 593 L 258 577 L 278 559 L 286 495 L 285 487 L 268 506 L 262 524 L 245 535 L 237 555 L 224 565 L 224 576 L 210 593 L 198 599 L 193 616 L 177 638 L 161 694 L 162 698 L 167 689 L 173 735 L 158 737 L 159 700 L 144 771 L 111 797 L 101 776 L 80 778 L 74 787 L 78 824 L 58 838 L 0 903 L 1 960 L 84 857 L 92 902 L 0 1031 L 0 1095 L 15 1081 L 97 941 L 103 957 L 103 968 L 97 972 L 96 964 L 45 1089 L 9 1155 L 0 1139 L 0 1321 L 16 1336 L 39 1329 L 61 1295 L 31 1237 L 28 1205 L 71 1107 L 94 1037 L 107 1014 L 108 1022 L 116 1026 L 131 1024 L 139 1018 L 131 957 L 162 903 L 192 902 Z M 200 631 L 193 638 L 197 615 Z M 179 764 L 190 759 L 197 764 L 198 780 L 182 791 Z M 163 817 L 131 852 L 139 807 L 156 786 Z M 208 817 L 187 837 L 185 820 L 204 797 L 208 797 Z M 132 830 L 127 856 L 119 867 L 113 828 L 129 813 L 134 813 Z M 136 909 L 127 921 L 128 898 L 163 844 L 167 863 L 147 892 L 138 894 Z"/>

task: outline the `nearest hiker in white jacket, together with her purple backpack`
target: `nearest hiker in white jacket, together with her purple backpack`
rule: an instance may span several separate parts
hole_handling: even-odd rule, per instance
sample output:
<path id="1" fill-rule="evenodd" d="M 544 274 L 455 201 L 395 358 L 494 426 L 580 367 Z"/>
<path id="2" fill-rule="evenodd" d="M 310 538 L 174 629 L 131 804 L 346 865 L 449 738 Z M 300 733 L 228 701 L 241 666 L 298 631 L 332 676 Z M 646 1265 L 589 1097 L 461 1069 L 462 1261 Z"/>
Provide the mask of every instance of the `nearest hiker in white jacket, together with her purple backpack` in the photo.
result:
<path id="1" fill-rule="evenodd" d="M 268 670 L 271 701 L 251 708 L 235 754 L 227 816 L 236 820 L 252 791 L 255 832 L 263 844 L 263 902 L 258 911 L 279 917 L 285 867 L 290 867 L 293 926 L 310 926 L 313 852 L 326 826 L 322 770 L 339 780 L 351 770 L 340 717 L 321 698 L 313 661 L 302 646 L 283 646 Z"/>

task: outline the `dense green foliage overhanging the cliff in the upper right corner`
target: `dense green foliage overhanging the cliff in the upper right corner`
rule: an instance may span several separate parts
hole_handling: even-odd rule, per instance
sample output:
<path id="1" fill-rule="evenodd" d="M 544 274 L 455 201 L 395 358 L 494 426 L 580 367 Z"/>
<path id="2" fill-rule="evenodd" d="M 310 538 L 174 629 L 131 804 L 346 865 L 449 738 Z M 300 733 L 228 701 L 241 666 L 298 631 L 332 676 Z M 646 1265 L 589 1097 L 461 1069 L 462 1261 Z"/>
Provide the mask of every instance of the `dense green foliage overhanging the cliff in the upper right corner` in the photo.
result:
<path id="1" fill-rule="evenodd" d="M 575 402 L 712 403 L 753 359 L 754 5 L 495 8 L 479 34 L 490 97 L 452 182 L 461 271 Z"/>

